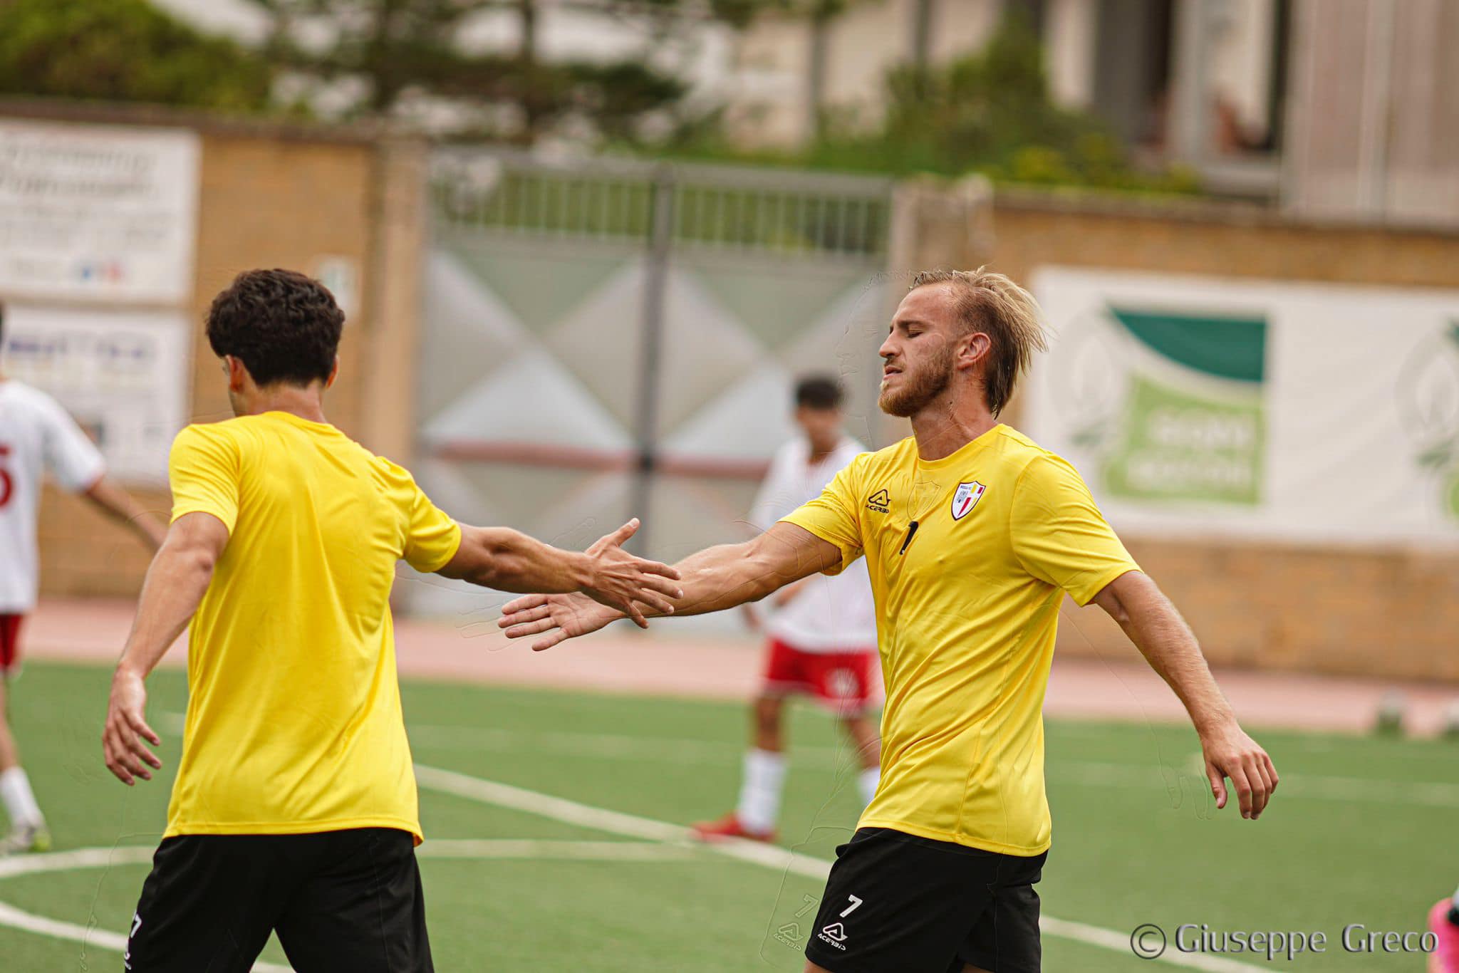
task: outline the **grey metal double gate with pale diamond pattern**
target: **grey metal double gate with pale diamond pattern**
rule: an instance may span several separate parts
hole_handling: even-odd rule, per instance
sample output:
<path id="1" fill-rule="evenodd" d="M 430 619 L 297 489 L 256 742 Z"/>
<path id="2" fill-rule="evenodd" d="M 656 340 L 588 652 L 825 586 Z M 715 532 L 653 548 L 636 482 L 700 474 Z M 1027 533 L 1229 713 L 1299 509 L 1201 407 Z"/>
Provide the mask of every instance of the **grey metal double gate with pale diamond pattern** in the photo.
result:
<path id="1" fill-rule="evenodd" d="M 430 203 L 417 468 L 454 515 L 569 547 L 638 515 L 676 560 L 746 537 L 797 375 L 870 443 L 889 179 L 451 149 Z"/>

